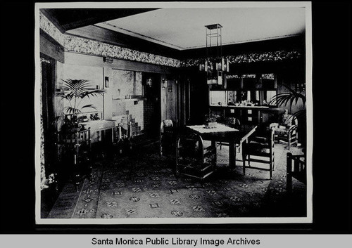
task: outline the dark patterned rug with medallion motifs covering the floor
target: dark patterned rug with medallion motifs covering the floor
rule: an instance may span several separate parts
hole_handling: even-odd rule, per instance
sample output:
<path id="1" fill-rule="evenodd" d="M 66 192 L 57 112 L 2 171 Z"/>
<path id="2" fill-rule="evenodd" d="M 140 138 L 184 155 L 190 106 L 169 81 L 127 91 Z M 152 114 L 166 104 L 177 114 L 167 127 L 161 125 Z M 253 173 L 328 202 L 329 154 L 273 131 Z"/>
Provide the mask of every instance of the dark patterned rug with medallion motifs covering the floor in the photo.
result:
<path id="1" fill-rule="evenodd" d="M 244 176 L 241 161 L 230 169 L 228 148 L 222 147 L 217 171 L 203 183 L 175 176 L 172 159 L 156 151 L 157 144 L 133 157 L 95 163 L 92 181 L 86 179 L 78 191 L 65 185 L 48 218 L 306 216 L 306 186 L 294 181 L 294 195 L 286 194 L 286 153 L 300 154 L 298 148 L 275 144 L 269 180 L 269 171 L 246 169 Z"/>

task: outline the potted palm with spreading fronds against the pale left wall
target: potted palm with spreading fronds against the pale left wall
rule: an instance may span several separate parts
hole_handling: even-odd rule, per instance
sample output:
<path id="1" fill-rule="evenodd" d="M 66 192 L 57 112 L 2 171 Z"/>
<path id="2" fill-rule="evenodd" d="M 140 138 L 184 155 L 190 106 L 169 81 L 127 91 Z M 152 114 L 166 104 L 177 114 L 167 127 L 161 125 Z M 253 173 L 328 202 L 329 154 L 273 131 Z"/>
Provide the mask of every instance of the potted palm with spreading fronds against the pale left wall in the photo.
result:
<path id="1" fill-rule="evenodd" d="M 82 113 L 83 109 L 96 107 L 92 104 L 80 106 L 84 98 L 91 98 L 96 96 L 102 96 L 105 91 L 103 89 L 92 89 L 89 85 L 89 80 L 84 79 L 62 79 L 63 85 L 58 88 L 56 96 L 66 99 L 68 106 L 63 107 L 62 115 L 57 117 L 60 119 L 63 117 L 63 126 L 61 131 L 72 132 L 80 131 L 82 126 L 78 122 L 77 115 Z"/>

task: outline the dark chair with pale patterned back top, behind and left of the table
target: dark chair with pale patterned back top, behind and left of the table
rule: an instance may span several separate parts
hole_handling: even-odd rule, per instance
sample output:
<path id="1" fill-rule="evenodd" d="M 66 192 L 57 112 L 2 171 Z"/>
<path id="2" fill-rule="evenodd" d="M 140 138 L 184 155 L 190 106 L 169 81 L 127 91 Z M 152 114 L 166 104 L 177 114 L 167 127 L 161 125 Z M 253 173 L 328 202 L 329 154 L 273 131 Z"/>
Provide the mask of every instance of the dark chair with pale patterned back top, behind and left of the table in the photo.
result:
<path id="1" fill-rule="evenodd" d="M 171 119 L 165 119 L 160 125 L 160 155 L 172 154 L 175 150 L 175 127 Z"/>

